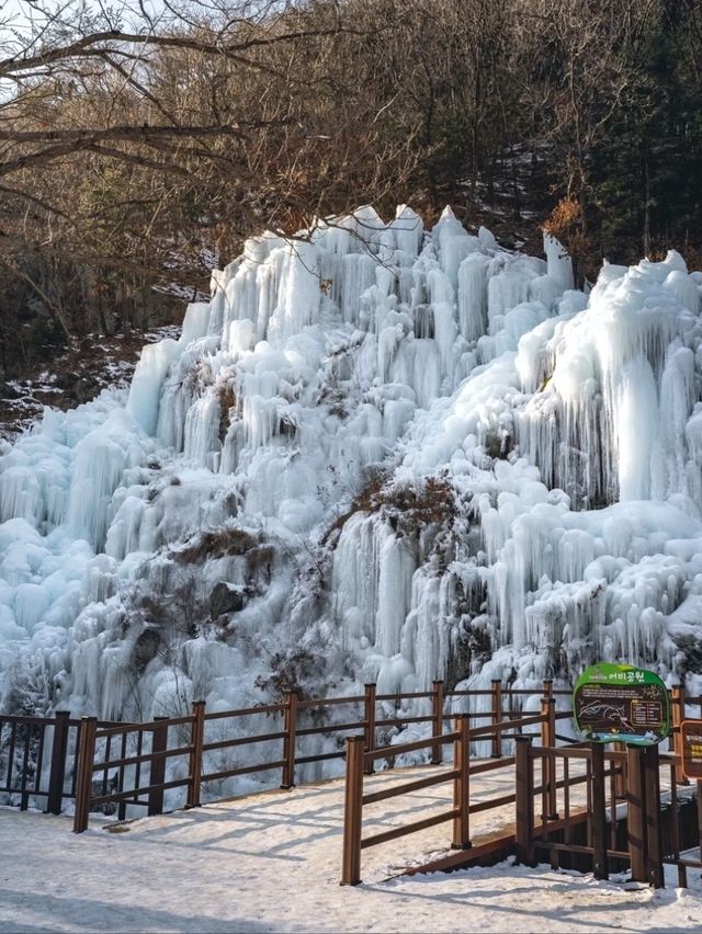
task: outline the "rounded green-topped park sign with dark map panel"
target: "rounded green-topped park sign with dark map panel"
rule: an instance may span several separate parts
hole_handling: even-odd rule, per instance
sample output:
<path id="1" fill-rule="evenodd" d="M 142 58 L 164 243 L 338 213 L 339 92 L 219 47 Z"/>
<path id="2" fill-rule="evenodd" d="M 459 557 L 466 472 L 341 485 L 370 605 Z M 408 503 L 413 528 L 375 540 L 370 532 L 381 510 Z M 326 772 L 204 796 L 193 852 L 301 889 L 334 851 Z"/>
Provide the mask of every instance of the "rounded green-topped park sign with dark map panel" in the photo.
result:
<path id="1" fill-rule="evenodd" d="M 586 739 L 654 745 L 670 732 L 668 690 L 653 671 L 593 664 L 576 681 L 573 713 Z"/>

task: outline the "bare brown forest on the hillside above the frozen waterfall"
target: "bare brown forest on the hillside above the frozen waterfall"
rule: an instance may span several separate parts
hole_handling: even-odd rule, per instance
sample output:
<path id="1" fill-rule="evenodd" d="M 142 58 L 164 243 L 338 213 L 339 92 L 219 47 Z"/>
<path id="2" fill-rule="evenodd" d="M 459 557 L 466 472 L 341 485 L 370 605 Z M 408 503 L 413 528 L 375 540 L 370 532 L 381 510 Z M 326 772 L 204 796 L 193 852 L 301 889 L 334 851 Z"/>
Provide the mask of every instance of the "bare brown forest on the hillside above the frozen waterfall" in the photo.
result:
<path id="1" fill-rule="evenodd" d="M 702 250 L 700 0 L 16 0 L 0 378 L 141 330 L 268 227 L 450 202 L 506 247 Z"/>

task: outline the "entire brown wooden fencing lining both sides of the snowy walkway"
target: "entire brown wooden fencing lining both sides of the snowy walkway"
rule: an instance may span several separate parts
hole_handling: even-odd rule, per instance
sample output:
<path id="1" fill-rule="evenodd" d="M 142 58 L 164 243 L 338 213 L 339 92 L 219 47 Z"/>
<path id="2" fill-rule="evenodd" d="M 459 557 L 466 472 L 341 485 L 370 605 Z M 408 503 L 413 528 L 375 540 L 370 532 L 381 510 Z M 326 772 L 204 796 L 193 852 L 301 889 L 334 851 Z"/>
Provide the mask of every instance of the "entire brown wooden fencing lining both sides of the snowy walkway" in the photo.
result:
<path id="1" fill-rule="evenodd" d="M 684 853 L 689 828 L 699 833 L 702 827 L 702 804 L 700 786 L 686 788 L 682 777 L 679 725 L 686 705 L 700 705 L 702 710 L 702 698 L 686 699 L 681 688 L 672 688 L 669 751 L 625 752 L 574 743 L 559 733 L 558 720 L 569 718 L 570 711 L 556 713 L 556 696 L 570 692 L 555 692 L 548 681 L 542 690 L 537 713 L 524 711 L 523 703 L 539 691 L 511 690 L 495 681 L 486 691 L 446 692 L 442 682 L 434 682 L 430 692 L 403 694 L 378 694 L 369 684 L 363 694 L 351 697 L 301 699 L 290 694 L 283 704 L 210 713 L 196 702 L 186 716 L 146 724 L 76 720 L 65 713 L 52 719 L 0 715 L 0 794 L 21 808 L 43 800 L 53 813 L 73 799 L 73 830 L 81 832 L 91 811 L 124 818 L 132 806 L 148 815 L 165 807 L 196 807 L 203 785 L 210 784 L 207 799 L 216 800 L 215 783 L 267 772 L 279 773 L 281 787 L 292 788 L 301 767 L 346 759 L 346 884 L 360 881 L 361 854 L 370 846 L 451 822 L 448 842 L 458 850 L 468 847 L 473 815 L 513 804 L 512 839 L 524 862 L 545 853 L 558 865 L 579 854 L 591 859 L 598 876 L 604 877 L 611 866 L 631 867 L 634 878 L 654 885 L 661 884 L 663 866 L 670 864 L 683 885 L 690 869 L 702 868 L 702 859 Z M 476 711 L 476 706 L 482 709 Z M 450 732 L 444 733 L 446 721 Z M 392 732 L 419 724 L 429 726 L 429 737 L 388 744 Z M 534 728 L 539 745 L 533 736 L 522 734 Z M 346 748 L 329 748 L 331 738 L 338 741 L 344 734 Z M 327 748 L 305 749 L 315 737 L 326 737 Z M 482 760 L 471 755 L 477 743 Z M 446 745 L 453 748 L 448 768 L 364 794 L 364 776 L 373 774 L 378 761 L 393 765 L 397 756 L 423 752 L 432 764 L 441 765 Z M 247 748 L 245 763 L 231 761 L 240 748 Z M 497 768 L 514 770 L 513 790 L 472 801 L 472 776 Z M 450 808 L 363 836 L 364 806 L 442 783 L 451 786 Z M 697 791 L 697 798 L 690 791 Z M 173 793 L 180 797 L 173 798 Z M 694 821 L 688 819 L 690 808 L 697 809 Z"/>

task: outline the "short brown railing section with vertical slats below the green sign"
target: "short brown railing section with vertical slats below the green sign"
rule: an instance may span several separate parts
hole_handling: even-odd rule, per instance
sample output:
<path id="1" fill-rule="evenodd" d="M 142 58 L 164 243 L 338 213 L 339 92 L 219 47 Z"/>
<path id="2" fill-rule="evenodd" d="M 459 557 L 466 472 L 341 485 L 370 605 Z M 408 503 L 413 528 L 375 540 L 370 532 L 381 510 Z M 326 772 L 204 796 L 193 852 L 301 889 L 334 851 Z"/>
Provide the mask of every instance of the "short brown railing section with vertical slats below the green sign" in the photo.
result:
<path id="1" fill-rule="evenodd" d="M 673 718 L 671 745 L 679 745 Z M 532 745 L 517 738 L 517 857 L 533 865 L 546 854 L 557 867 L 574 854 L 590 859 L 596 878 L 612 868 L 664 886 L 664 865 L 677 866 L 681 887 L 702 869 L 702 782 L 681 777 L 680 755 L 657 745 L 605 749 Z M 687 851 L 699 848 L 699 858 Z M 566 864 L 566 867 L 567 864 Z"/>

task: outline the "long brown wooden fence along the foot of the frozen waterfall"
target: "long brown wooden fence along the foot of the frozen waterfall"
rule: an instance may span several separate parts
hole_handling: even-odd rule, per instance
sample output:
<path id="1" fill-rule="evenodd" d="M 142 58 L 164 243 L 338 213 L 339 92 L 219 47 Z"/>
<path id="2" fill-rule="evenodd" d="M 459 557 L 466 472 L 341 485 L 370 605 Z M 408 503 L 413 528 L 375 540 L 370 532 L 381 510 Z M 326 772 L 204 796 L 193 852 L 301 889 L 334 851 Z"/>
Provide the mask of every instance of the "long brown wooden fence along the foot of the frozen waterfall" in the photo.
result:
<path id="1" fill-rule="evenodd" d="M 545 682 L 543 690 L 551 693 L 551 682 Z M 170 807 L 193 807 L 200 804 L 206 783 L 211 783 L 207 797 L 213 800 L 213 783 L 278 770 L 281 787 L 292 788 L 302 766 L 344 759 L 343 747 L 303 754 L 301 745 L 309 737 L 342 737 L 361 730 L 364 749 L 371 752 L 389 732 L 408 725 L 430 724 L 432 733 L 439 734 L 444 719 L 451 716 L 446 708 L 452 705 L 480 703 L 485 710 L 474 716 L 499 724 L 521 714 L 525 695 L 539 693 L 513 691 L 499 681 L 492 681 L 485 691 L 446 692 L 443 682 L 437 681 L 428 692 L 378 694 L 374 684 L 367 684 L 360 695 L 299 699 L 288 694 L 283 704 L 238 710 L 206 713 L 204 703 L 196 702 L 188 716 L 146 724 L 94 717 L 78 720 L 66 713 L 50 719 L 0 714 L 0 794 L 21 808 L 31 800 L 34 806 L 43 801 L 45 810 L 53 813 L 60 812 L 64 801 L 75 799 L 76 829 L 84 830 L 91 811 L 123 818 L 126 808 L 135 806 L 147 813 L 159 813 L 165 793 L 173 789 L 181 794 L 177 798 L 171 794 Z M 414 709 L 403 709 L 408 705 Z M 418 713 L 422 706 L 423 713 Z M 247 731 L 251 718 L 261 717 L 270 721 L 264 725 L 265 731 Z M 499 737 L 491 742 L 494 754 L 500 755 Z M 275 743 L 280 752 L 271 754 Z M 258 750 L 246 764 L 217 764 L 218 755 L 226 758 L 244 747 Z M 441 744 L 434 742 L 431 761 L 441 762 Z M 372 772 L 373 761 L 369 760 L 365 767 Z"/>

